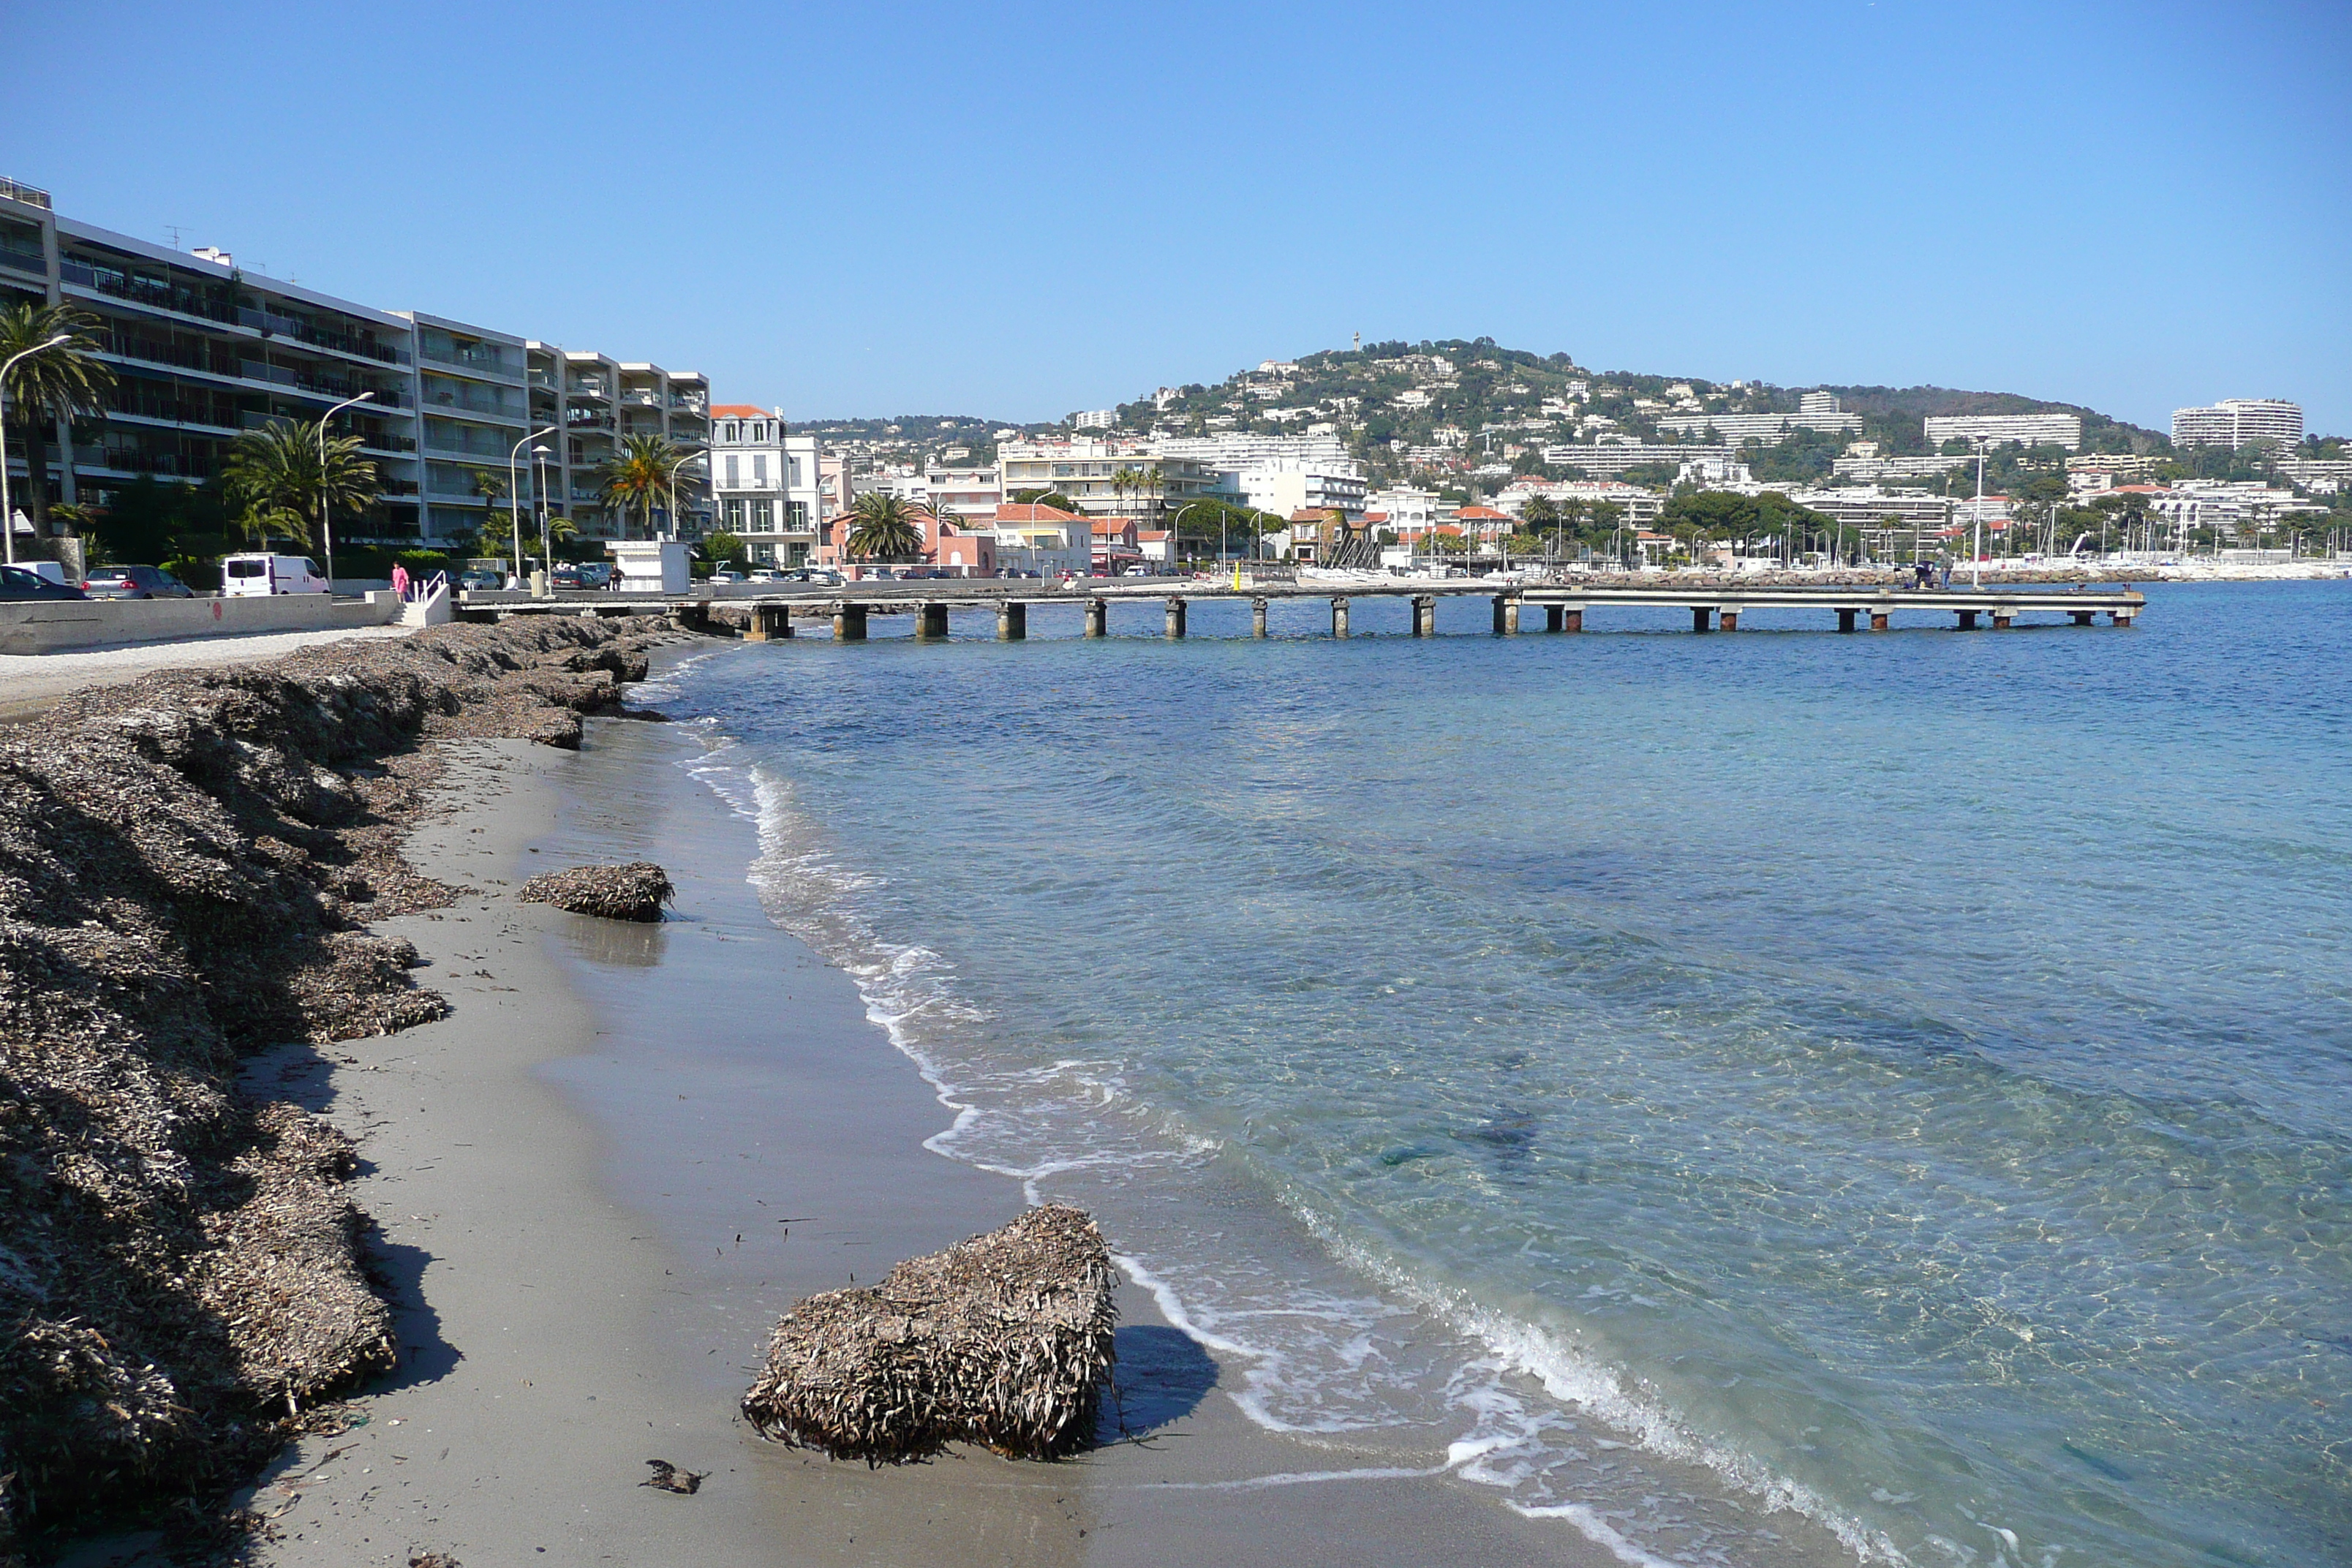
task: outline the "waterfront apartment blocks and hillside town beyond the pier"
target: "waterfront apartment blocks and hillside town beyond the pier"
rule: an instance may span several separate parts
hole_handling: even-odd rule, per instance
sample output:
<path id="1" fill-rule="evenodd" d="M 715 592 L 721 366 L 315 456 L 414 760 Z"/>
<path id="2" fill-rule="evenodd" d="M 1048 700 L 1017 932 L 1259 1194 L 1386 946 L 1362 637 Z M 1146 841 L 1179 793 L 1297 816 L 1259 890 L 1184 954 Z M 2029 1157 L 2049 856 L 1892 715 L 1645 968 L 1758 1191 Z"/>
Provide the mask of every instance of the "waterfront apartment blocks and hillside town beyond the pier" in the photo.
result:
<path id="1" fill-rule="evenodd" d="M 2352 454 L 2277 397 L 2183 407 L 2157 433 L 2011 395 L 1592 371 L 1477 339 L 1357 341 L 1056 423 L 795 421 L 633 357 L 649 346 L 336 299 L 80 223 L 14 181 L 0 303 L 68 313 L 108 371 L 85 407 L 9 409 L 12 559 L 155 559 L 188 581 L 252 531 L 223 475 L 273 425 L 332 428 L 365 465 L 327 524 L 339 581 L 647 538 L 760 578 L 2267 567 L 2352 545 Z M 894 531 L 861 531 L 868 515 Z"/>

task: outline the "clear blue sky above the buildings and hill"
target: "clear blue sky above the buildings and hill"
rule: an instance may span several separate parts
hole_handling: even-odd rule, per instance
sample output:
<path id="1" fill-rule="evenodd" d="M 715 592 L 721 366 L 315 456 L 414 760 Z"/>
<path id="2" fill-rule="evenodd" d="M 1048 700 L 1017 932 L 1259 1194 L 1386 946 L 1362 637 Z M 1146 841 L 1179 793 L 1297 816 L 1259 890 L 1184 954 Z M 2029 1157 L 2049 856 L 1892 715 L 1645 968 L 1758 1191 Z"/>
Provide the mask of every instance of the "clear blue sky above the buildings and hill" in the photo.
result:
<path id="1" fill-rule="evenodd" d="M 0 0 L 0 174 L 790 416 L 1374 339 L 2352 433 L 2352 5 Z"/>

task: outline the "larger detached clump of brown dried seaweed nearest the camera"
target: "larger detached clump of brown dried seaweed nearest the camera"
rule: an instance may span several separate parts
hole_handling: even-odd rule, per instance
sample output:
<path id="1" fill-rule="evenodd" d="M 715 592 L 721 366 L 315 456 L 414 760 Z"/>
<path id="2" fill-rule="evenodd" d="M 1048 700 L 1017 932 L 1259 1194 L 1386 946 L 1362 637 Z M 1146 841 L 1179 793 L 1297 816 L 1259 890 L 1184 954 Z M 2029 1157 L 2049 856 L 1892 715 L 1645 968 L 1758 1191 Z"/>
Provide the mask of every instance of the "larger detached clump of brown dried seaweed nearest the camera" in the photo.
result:
<path id="1" fill-rule="evenodd" d="M 1030 1208 L 880 1284 L 804 1298 L 776 1324 L 743 1415 L 762 1436 L 868 1465 L 948 1443 L 1061 1458 L 1096 1434 L 1112 1284 L 1094 1220 Z"/>

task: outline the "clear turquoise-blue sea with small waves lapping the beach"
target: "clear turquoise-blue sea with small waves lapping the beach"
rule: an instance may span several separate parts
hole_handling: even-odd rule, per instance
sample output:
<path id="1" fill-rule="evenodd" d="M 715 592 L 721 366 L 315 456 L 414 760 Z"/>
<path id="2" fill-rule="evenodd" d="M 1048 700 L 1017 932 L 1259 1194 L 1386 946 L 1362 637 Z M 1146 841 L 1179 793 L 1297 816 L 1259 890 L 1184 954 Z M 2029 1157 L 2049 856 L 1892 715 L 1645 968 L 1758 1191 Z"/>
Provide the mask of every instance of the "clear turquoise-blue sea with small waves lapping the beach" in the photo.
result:
<path id="1" fill-rule="evenodd" d="M 2352 588 L 2150 599 L 877 623 L 663 705 L 938 1147 L 1103 1213 L 1261 1420 L 1658 1561 L 1766 1559 L 1771 1502 L 1924 1563 L 2352 1561 Z"/>

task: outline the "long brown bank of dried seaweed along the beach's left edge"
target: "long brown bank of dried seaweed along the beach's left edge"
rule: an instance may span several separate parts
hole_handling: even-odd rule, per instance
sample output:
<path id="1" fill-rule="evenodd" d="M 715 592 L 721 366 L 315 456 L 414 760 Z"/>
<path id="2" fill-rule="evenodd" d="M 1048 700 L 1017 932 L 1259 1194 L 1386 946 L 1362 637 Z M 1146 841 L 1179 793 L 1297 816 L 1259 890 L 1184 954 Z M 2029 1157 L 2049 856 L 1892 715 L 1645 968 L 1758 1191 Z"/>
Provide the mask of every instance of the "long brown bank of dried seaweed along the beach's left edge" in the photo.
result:
<path id="1" fill-rule="evenodd" d="M 0 1561 L 216 1490 L 393 1359 L 327 1121 L 240 1058 L 437 1018 L 365 919 L 428 736 L 576 748 L 644 649 L 600 621 L 449 625 L 174 670 L 0 731 Z"/>

